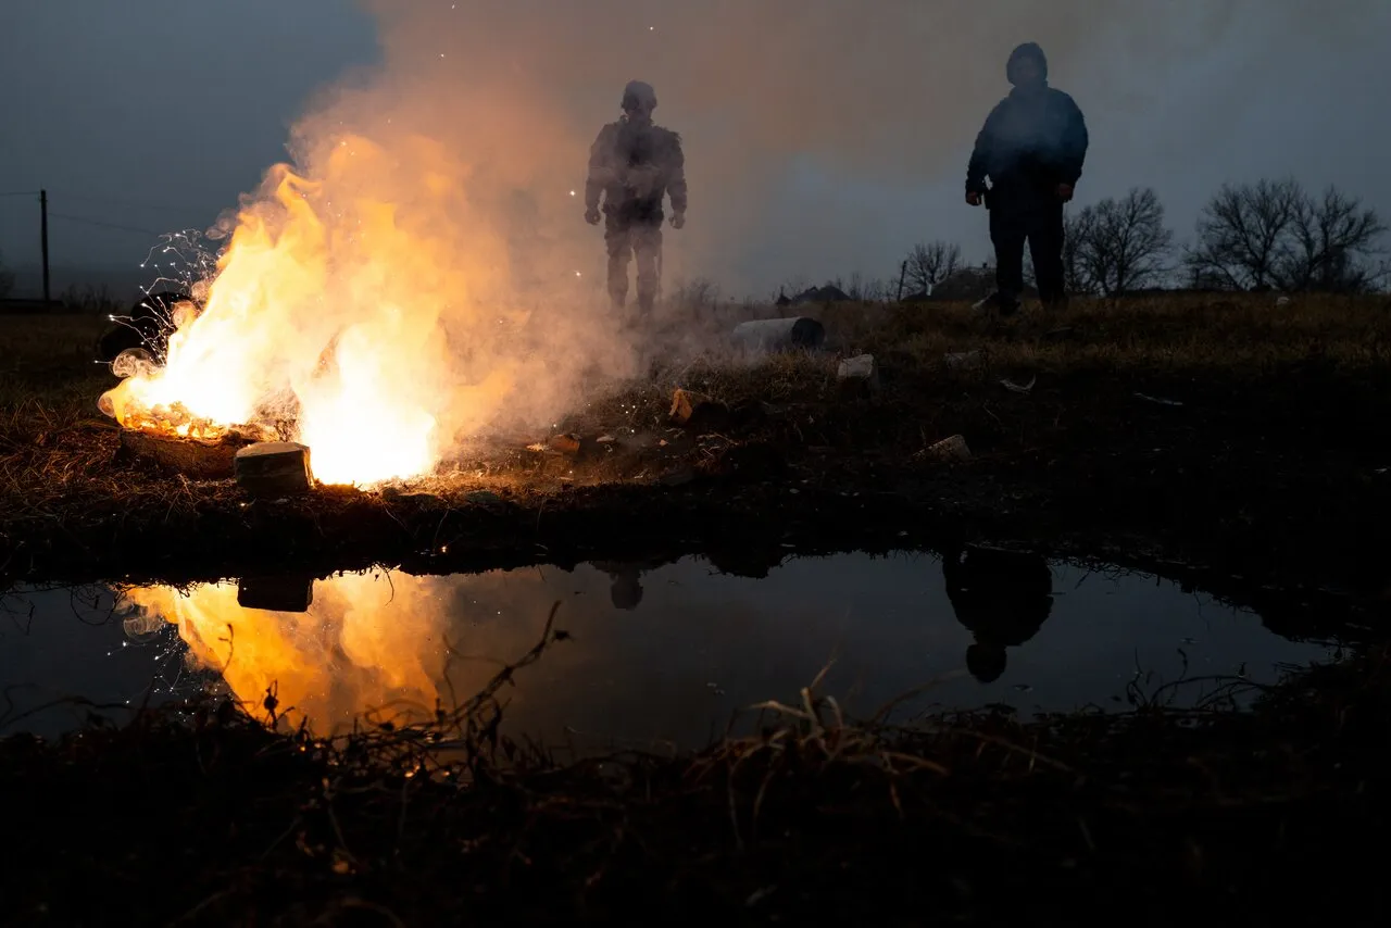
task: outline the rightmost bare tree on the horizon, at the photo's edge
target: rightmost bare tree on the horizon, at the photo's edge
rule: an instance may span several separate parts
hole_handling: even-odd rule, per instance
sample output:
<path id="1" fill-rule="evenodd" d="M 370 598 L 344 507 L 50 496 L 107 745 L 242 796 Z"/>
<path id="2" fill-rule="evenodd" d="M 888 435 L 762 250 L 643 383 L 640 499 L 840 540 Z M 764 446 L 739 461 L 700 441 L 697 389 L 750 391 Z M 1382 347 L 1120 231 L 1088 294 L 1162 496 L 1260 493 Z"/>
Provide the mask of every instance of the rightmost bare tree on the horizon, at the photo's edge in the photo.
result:
<path id="1" fill-rule="evenodd" d="M 1280 246 L 1274 275 L 1289 292 L 1327 294 L 1376 289 L 1380 267 L 1370 263 L 1387 227 L 1376 210 L 1328 186 L 1323 199 L 1302 195 Z"/>

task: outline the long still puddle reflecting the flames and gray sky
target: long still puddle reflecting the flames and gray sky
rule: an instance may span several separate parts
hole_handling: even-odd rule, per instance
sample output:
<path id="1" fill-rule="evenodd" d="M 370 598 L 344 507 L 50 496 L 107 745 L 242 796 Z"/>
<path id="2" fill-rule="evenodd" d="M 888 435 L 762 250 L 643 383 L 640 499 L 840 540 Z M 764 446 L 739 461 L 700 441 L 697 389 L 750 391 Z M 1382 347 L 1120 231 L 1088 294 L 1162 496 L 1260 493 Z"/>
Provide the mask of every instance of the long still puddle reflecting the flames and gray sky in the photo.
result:
<path id="1" fill-rule="evenodd" d="M 690 557 L 26 587 L 0 614 L 0 736 L 56 736 L 93 712 L 120 722 L 125 707 L 207 689 L 252 707 L 271 690 L 288 721 L 321 733 L 409 721 L 527 653 L 556 602 L 565 634 L 502 691 L 505 728 L 579 750 L 700 747 L 744 707 L 796 701 L 828 662 L 822 689 L 850 715 L 926 687 L 894 710 L 910 721 L 986 705 L 1120 711 L 1135 696 L 1239 704 L 1251 693 L 1232 679 L 1271 683 L 1337 655 L 1168 580 L 978 552 L 790 558 L 758 579 Z"/>

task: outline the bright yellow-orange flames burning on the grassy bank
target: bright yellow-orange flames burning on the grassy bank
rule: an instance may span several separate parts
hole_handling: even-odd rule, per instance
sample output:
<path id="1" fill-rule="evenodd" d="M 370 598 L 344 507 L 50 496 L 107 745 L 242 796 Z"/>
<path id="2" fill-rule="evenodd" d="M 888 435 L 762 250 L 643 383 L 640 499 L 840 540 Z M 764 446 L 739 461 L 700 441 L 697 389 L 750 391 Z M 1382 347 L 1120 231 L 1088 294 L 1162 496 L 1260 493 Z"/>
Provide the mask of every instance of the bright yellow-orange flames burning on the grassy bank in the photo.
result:
<path id="1" fill-rule="evenodd" d="M 477 291 L 506 253 L 487 230 L 460 228 L 469 168 L 427 139 L 388 150 L 341 136 L 310 163 L 313 177 L 268 173 L 203 310 L 175 320 L 163 365 L 120 359 L 124 380 L 100 408 L 127 429 L 192 438 L 288 423 L 321 483 L 428 473 L 510 385 L 501 360 L 469 383 L 449 346 L 451 328 L 483 327 Z"/>

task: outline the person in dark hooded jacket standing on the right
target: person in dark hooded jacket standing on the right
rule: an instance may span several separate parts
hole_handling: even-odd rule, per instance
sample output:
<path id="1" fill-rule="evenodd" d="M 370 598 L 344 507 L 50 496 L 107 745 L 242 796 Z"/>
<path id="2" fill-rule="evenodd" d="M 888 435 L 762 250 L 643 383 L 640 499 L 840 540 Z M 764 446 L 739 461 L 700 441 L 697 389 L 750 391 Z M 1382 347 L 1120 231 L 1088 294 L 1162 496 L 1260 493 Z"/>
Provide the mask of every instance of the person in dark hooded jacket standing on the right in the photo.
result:
<path id="1" fill-rule="evenodd" d="M 1066 305 L 1063 205 L 1072 199 L 1088 146 L 1077 102 L 1049 86 L 1043 49 L 1034 42 L 1014 49 L 1006 77 L 1014 89 L 986 117 L 965 174 L 965 202 L 985 203 L 990 213 L 996 266 L 990 302 L 1002 316 L 1020 307 L 1025 242 L 1040 302 Z"/>

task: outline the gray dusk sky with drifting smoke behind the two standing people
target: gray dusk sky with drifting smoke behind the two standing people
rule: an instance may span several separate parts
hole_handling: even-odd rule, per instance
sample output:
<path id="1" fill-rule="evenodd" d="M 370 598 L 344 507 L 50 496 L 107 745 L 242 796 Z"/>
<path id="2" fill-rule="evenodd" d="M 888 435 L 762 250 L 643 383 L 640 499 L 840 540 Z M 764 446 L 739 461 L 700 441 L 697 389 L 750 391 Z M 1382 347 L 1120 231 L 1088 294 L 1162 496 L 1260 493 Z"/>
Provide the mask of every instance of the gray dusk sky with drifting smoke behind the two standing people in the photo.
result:
<path id="1" fill-rule="evenodd" d="M 1391 213 L 1387 35 L 1384 0 L 6 0 L 0 193 L 50 191 L 54 264 L 132 267 L 149 237 L 57 214 L 204 227 L 285 159 L 310 95 L 345 71 L 385 60 L 356 79 L 378 128 L 415 95 L 472 157 L 542 138 L 490 127 L 474 100 L 459 114 L 491 134 L 480 153 L 448 110 L 467 85 L 554 127 L 566 164 L 644 77 L 687 145 L 691 214 L 668 239 L 669 274 L 733 291 L 889 277 L 915 241 L 988 256 L 964 163 L 1008 89 L 1004 56 L 1031 39 L 1088 118 L 1079 203 L 1152 185 L 1184 238 L 1223 181 L 1292 173 Z M 583 178 L 583 164 L 542 167 L 558 186 Z M 565 235 L 597 270 L 579 211 Z M 32 200 L 0 198 L 8 264 L 36 263 L 36 220 Z"/>

